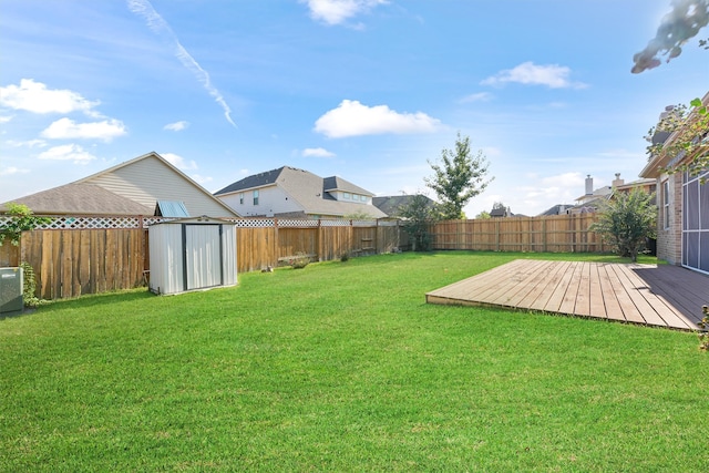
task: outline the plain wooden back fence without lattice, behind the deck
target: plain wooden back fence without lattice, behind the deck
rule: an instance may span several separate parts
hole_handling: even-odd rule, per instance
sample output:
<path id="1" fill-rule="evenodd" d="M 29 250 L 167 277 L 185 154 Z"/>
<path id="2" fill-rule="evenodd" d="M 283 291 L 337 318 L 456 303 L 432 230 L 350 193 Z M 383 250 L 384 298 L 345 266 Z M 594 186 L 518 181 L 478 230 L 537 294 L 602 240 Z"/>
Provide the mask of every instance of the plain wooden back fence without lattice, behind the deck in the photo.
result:
<path id="1" fill-rule="evenodd" d="M 433 249 L 492 251 L 603 253 L 600 236 L 590 230 L 596 214 L 545 217 L 446 220 L 432 226 Z"/>

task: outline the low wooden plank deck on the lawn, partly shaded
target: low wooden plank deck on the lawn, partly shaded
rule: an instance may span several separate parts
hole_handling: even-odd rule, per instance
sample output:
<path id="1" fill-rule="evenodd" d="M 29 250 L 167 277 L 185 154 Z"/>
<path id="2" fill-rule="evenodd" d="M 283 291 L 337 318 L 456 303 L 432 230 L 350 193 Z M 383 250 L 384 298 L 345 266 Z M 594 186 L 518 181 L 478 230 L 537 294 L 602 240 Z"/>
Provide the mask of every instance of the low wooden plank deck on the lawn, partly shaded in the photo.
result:
<path id="1" fill-rule="evenodd" d="M 709 277 L 670 265 L 517 259 L 425 299 L 696 330 L 709 305 Z"/>

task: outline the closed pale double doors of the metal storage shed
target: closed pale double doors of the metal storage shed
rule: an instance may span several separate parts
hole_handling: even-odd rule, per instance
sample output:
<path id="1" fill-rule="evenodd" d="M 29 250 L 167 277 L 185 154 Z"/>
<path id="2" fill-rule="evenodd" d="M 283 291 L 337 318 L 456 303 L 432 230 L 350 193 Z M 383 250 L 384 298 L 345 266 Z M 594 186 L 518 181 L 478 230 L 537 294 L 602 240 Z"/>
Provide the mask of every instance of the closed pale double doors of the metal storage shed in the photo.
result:
<path id="1" fill-rule="evenodd" d="M 223 285 L 220 230 L 220 225 L 185 225 L 186 290 Z"/>

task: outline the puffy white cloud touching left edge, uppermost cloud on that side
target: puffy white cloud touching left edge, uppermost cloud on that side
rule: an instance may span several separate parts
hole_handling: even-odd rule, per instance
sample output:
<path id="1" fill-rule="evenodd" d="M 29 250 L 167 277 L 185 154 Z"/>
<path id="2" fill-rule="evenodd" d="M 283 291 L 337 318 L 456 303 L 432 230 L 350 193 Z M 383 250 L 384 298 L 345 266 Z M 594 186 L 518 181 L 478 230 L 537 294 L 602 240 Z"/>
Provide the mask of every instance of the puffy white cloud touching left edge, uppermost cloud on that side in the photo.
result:
<path id="1" fill-rule="evenodd" d="M 92 109 L 100 102 L 91 102 L 81 94 L 69 90 L 47 89 L 41 82 L 22 79 L 20 85 L 0 88 L 0 105 L 13 110 L 24 110 L 32 113 L 70 113 L 84 112 L 97 116 Z"/>

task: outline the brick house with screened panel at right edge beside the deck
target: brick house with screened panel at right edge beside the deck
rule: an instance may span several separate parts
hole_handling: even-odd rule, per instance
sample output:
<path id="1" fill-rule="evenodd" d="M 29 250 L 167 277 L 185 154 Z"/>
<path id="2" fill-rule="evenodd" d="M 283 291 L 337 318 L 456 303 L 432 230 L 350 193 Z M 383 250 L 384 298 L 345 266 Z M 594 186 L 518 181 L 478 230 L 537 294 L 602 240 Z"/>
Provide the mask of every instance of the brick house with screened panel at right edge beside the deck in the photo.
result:
<path id="1" fill-rule="evenodd" d="M 709 103 L 709 92 L 703 96 L 702 103 Z M 695 116 L 696 111 L 692 111 L 688 122 Z M 672 151 L 672 145 L 681 136 L 681 130 L 669 135 L 666 132 L 657 134 L 653 137 L 654 143 L 661 143 L 662 150 L 650 156 L 640 172 L 641 177 L 655 179 L 659 189 L 658 258 L 706 274 L 709 274 L 709 169 L 705 168 L 695 176 L 686 172 L 667 173 L 666 169 L 677 171 L 697 153 L 709 153 L 708 132 L 709 130 L 705 130 L 703 135 L 697 136 L 696 143 L 700 146 L 695 147 L 693 154 Z"/>

